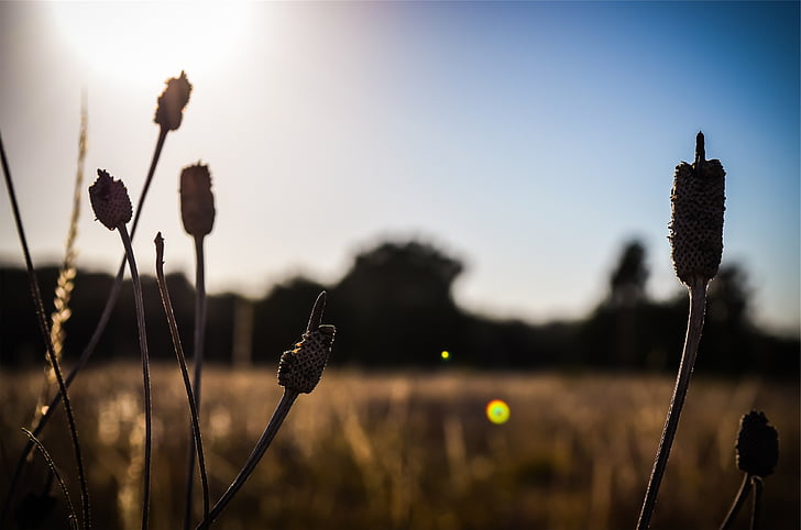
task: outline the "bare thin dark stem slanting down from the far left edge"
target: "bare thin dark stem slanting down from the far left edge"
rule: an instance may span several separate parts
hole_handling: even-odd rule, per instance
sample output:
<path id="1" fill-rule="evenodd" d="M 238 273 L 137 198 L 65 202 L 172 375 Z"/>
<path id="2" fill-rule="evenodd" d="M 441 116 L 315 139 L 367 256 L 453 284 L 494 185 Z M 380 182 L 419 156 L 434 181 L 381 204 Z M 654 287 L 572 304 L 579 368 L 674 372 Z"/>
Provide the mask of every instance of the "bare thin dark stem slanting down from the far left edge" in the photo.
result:
<path id="1" fill-rule="evenodd" d="M 78 441 L 78 429 L 75 426 L 75 416 L 73 415 L 73 407 L 69 402 L 69 396 L 67 395 L 67 385 L 64 380 L 64 376 L 62 374 L 61 365 L 58 364 L 58 358 L 56 358 L 55 351 L 53 349 L 53 341 L 51 340 L 51 330 L 50 325 L 47 324 L 47 318 L 44 312 L 44 303 L 42 302 L 42 291 L 39 287 L 39 279 L 36 279 L 36 269 L 33 267 L 33 261 L 31 260 L 31 252 L 28 247 L 28 239 L 25 238 L 25 230 L 22 227 L 22 217 L 20 216 L 20 207 L 17 202 L 17 194 L 14 192 L 14 185 L 11 179 L 11 170 L 9 168 L 9 162 L 6 157 L 6 147 L 3 146 L 2 142 L 2 135 L 0 135 L 0 163 L 2 164 L 3 168 L 3 176 L 6 179 L 6 186 L 9 190 L 9 198 L 11 200 L 11 209 L 14 214 L 14 223 L 17 224 L 17 234 L 20 239 L 20 244 L 22 245 L 22 253 L 25 257 L 25 267 L 28 269 L 28 280 L 31 288 L 31 296 L 33 297 L 33 302 L 36 307 L 36 318 L 39 320 L 39 329 L 42 333 L 42 339 L 44 340 L 45 346 L 47 349 L 47 358 L 50 358 L 51 364 L 53 365 L 53 369 L 56 375 L 56 380 L 58 382 L 58 396 L 61 396 L 64 399 L 64 411 L 67 416 L 67 424 L 69 427 L 69 438 L 73 441 L 73 450 L 75 452 L 75 465 L 78 468 L 78 482 L 80 483 L 80 504 L 81 504 L 81 515 L 84 519 L 84 528 L 89 528 L 90 525 L 90 514 L 89 514 L 89 488 L 86 484 L 86 473 L 84 470 L 84 457 L 80 452 L 80 442 Z M 28 445 L 33 446 L 34 442 L 30 441 L 28 442 Z M 28 446 L 26 445 L 26 446 Z M 29 450 L 30 452 L 30 450 Z M 23 459 L 24 462 L 24 459 Z M 3 503 L 3 509 L 2 514 L 0 514 L 0 526 L 2 526 L 2 521 L 6 519 L 6 512 L 8 511 L 8 507 L 11 503 L 11 495 L 14 492 L 14 485 L 11 484 L 9 487 L 9 493 L 6 496 L 6 501 Z"/>

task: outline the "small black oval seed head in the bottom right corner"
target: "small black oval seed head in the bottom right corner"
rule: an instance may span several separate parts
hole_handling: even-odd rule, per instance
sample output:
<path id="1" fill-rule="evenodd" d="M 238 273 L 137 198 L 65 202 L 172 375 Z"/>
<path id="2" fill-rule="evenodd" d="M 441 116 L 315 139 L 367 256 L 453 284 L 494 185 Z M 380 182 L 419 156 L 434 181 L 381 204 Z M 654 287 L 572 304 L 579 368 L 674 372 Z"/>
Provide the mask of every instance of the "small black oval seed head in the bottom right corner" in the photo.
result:
<path id="1" fill-rule="evenodd" d="M 779 433 L 768 424 L 764 412 L 751 410 L 739 420 L 737 434 L 737 467 L 766 477 L 773 473 L 779 461 Z"/>

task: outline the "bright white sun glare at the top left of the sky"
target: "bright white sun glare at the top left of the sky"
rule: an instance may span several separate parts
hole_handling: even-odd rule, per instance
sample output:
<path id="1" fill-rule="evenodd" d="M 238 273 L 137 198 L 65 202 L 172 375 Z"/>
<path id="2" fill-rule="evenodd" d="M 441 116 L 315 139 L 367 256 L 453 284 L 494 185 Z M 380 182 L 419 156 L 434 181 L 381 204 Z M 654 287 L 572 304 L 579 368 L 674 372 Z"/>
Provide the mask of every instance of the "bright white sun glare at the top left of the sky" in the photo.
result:
<path id="1" fill-rule="evenodd" d="M 56 2 L 59 42 L 95 74 L 162 81 L 208 74 L 230 59 L 248 21 L 244 2 Z"/>

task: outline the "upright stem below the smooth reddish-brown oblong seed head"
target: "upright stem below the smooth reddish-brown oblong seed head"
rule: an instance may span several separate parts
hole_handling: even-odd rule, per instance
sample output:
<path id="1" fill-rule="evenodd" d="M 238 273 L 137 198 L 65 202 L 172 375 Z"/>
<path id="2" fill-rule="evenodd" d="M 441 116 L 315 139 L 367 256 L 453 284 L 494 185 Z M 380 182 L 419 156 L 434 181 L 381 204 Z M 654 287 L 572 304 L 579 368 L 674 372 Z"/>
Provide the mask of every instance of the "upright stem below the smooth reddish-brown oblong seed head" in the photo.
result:
<path id="1" fill-rule="evenodd" d="M 195 407 L 200 415 L 200 377 L 202 373 L 204 350 L 206 345 L 206 260 L 204 254 L 202 235 L 195 236 L 195 374 L 193 387 L 195 388 Z M 191 528 L 191 499 L 195 486 L 195 437 L 189 433 L 189 457 L 186 468 L 186 503 L 184 511 L 184 529 Z M 208 495 L 205 498 L 208 503 Z M 204 511 L 204 519 L 208 518 L 208 506 Z"/>

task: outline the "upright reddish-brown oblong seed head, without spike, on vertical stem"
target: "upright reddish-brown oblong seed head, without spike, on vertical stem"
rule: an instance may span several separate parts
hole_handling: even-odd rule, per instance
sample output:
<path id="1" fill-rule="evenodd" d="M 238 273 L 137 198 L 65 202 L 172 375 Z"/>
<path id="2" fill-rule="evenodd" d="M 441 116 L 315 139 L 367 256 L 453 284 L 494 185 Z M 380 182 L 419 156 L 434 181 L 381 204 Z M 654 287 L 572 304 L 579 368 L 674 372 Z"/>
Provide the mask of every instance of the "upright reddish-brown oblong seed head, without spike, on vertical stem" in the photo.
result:
<path id="1" fill-rule="evenodd" d="M 189 235 L 202 238 L 215 225 L 215 196 L 209 166 L 200 163 L 180 173 L 180 218 Z"/>

